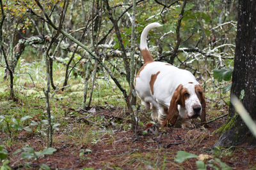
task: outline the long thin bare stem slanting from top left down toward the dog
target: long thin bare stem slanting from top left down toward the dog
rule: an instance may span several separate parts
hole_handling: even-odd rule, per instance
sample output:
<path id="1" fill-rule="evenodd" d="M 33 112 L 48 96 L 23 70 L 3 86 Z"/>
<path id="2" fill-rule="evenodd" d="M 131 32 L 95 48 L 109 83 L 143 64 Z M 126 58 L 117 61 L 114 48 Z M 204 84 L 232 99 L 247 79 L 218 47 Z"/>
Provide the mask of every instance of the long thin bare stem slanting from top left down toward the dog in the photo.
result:
<path id="1" fill-rule="evenodd" d="M 39 8 L 43 11 L 46 19 L 44 17 L 40 17 L 38 15 L 36 15 L 35 12 L 33 12 L 30 9 L 30 12 L 33 13 L 33 15 L 36 15 L 36 17 L 41 18 L 42 20 L 44 20 L 45 22 L 47 22 L 48 24 L 50 24 L 54 29 L 58 29 L 58 27 L 52 22 L 51 18 L 49 18 L 49 16 L 47 15 L 47 13 L 45 12 L 43 6 L 40 4 L 40 2 L 38 0 L 35 0 L 36 4 L 39 6 Z M 67 32 L 63 31 L 63 29 L 60 29 L 60 32 L 66 36 L 68 39 L 70 39 L 71 41 L 73 41 L 74 43 L 76 43 L 77 45 L 81 46 L 84 50 L 86 50 L 86 52 L 88 52 L 90 55 L 92 55 L 92 57 L 95 60 L 98 60 L 98 62 L 100 63 L 100 66 L 102 66 L 104 69 L 106 69 L 106 71 L 108 72 L 109 76 L 112 78 L 112 80 L 115 82 L 116 86 L 118 87 L 118 89 L 122 92 L 124 98 L 125 98 L 125 102 L 127 104 L 129 104 L 129 101 L 127 100 L 127 92 L 126 90 L 122 87 L 122 85 L 120 85 L 119 81 L 115 78 L 115 76 L 113 76 L 113 74 L 111 73 L 111 71 L 109 70 L 109 68 L 102 62 L 102 60 L 99 58 L 98 55 L 96 55 L 95 53 L 93 53 L 90 48 L 88 48 L 87 46 L 85 46 L 83 43 L 81 43 L 80 41 L 78 41 L 76 38 L 74 38 L 73 36 L 71 36 L 70 34 L 68 34 Z"/>

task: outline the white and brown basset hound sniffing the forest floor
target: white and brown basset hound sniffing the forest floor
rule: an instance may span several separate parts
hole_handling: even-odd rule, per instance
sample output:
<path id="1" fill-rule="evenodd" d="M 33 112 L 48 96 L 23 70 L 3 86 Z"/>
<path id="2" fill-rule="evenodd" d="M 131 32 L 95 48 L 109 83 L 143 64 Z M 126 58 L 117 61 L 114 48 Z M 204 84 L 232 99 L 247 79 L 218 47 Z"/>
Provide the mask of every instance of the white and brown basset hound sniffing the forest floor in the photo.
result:
<path id="1" fill-rule="evenodd" d="M 160 27 L 154 22 L 147 25 L 141 34 L 140 50 L 144 65 L 138 71 L 134 86 L 141 103 L 152 110 L 152 119 L 161 125 L 174 125 L 179 117 L 182 128 L 195 127 L 191 118 L 200 117 L 205 122 L 205 97 L 195 76 L 187 70 L 171 64 L 156 62 L 147 46 L 150 29 Z"/>

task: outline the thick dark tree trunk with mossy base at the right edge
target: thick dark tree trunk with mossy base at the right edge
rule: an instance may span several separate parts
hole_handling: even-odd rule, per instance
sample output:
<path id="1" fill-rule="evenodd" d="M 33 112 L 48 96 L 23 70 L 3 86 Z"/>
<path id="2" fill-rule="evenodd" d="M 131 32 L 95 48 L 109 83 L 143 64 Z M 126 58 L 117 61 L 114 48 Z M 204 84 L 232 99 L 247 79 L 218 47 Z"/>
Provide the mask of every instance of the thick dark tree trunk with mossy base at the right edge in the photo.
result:
<path id="1" fill-rule="evenodd" d="M 239 1 L 236 53 L 231 94 L 239 97 L 256 120 L 256 1 Z M 256 145 L 256 139 L 230 104 L 225 132 L 215 146 Z"/>

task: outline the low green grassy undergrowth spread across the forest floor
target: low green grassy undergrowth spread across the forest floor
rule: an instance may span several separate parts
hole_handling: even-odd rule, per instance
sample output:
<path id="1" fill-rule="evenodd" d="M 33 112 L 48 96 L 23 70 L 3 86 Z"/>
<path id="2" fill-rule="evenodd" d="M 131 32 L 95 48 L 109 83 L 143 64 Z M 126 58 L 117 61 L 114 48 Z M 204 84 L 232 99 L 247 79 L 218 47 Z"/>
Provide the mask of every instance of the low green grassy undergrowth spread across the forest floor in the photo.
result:
<path id="1" fill-rule="evenodd" d="M 28 63 L 26 64 L 28 65 Z M 44 71 L 43 65 L 42 62 L 31 62 L 29 67 L 24 67 L 22 66 L 22 60 L 20 60 L 17 74 L 15 74 L 14 87 L 17 101 L 8 99 L 10 95 L 8 80 L 2 80 L 2 86 L 0 87 L 0 145 L 3 145 L 7 150 L 15 148 L 19 152 L 27 152 L 23 153 L 23 155 L 25 154 L 27 156 L 26 158 L 29 158 L 29 163 L 33 162 L 35 158 L 42 159 L 42 157 L 37 157 L 35 154 L 44 151 L 44 147 L 46 146 L 45 141 L 47 140 L 47 115 L 43 92 L 45 88 L 45 76 L 42 73 Z M 22 72 L 35 72 L 36 74 L 31 74 L 33 81 L 28 74 L 18 74 Z M 0 76 L 3 73 L 3 68 L 0 68 Z M 64 74 L 59 64 L 54 64 L 54 82 L 59 87 L 63 81 Z M 126 82 L 122 79 L 120 78 L 122 82 Z M 80 149 L 74 154 L 79 155 L 81 162 L 90 160 L 93 147 L 99 145 L 99 143 L 114 146 L 115 141 L 120 140 L 117 139 L 116 132 L 131 132 L 131 118 L 126 113 L 122 93 L 115 86 L 113 80 L 102 72 L 97 74 L 91 104 L 92 110 L 88 111 L 81 110 L 83 106 L 83 81 L 82 76 L 71 76 L 68 81 L 70 87 L 67 87 L 64 91 L 51 91 L 54 97 L 50 99 L 52 127 L 54 130 L 53 143 L 58 145 L 65 143 L 68 147 L 78 146 Z M 33 83 L 35 83 L 35 87 Z M 220 88 L 218 88 L 219 83 L 211 80 L 208 81 L 205 87 L 208 118 L 218 117 L 227 112 L 227 96 L 229 94 L 227 93 L 223 96 Z M 126 89 L 129 88 L 126 83 L 122 85 Z M 90 89 L 92 87 L 89 87 L 87 96 L 90 96 Z M 140 104 L 140 101 L 138 103 Z M 97 114 L 101 109 L 112 111 L 117 108 L 124 115 L 124 118 L 121 120 L 118 117 L 106 117 L 105 115 Z M 143 128 L 147 126 L 148 122 L 152 121 L 150 113 L 145 113 L 142 108 L 139 112 L 139 118 L 141 134 L 147 136 L 147 131 L 143 131 Z M 161 132 L 157 132 L 156 134 L 161 134 Z M 209 138 L 211 135 L 207 131 L 198 131 L 198 136 L 189 136 L 188 133 L 187 142 L 195 146 L 197 143 L 202 143 L 205 138 Z M 40 146 L 35 145 L 35 143 L 29 143 L 30 139 L 38 139 L 42 143 Z M 12 152 L 15 152 L 15 150 L 12 150 Z M 17 155 L 22 154 L 19 152 L 17 152 Z M 133 165 L 134 167 L 134 164 L 136 164 L 135 167 L 137 169 L 143 169 L 145 167 L 148 169 L 157 169 L 159 167 L 165 169 L 166 166 L 172 165 L 173 167 L 182 169 L 182 164 L 174 163 L 174 158 L 170 158 L 172 154 L 166 152 L 163 147 L 148 151 L 147 153 L 141 153 L 140 150 L 135 150 L 129 154 L 120 154 L 119 157 L 123 158 L 120 164 L 104 164 L 103 166 L 120 169 L 124 165 Z M 8 159 L 12 159 L 12 157 L 16 157 L 17 155 L 8 154 Z M 223 154 L 220 155 L 218 151 L 211 153 L 211 155 L 214 155 L 216 158 L 225 156 Z M 16 159 L 20 159 L 22 162 L 20 155 Z M 4 161 L 6 161 L 6 158 Z M 2 166 L 7 167 L 6 164 L 6 162 L 1 163 Z"/>

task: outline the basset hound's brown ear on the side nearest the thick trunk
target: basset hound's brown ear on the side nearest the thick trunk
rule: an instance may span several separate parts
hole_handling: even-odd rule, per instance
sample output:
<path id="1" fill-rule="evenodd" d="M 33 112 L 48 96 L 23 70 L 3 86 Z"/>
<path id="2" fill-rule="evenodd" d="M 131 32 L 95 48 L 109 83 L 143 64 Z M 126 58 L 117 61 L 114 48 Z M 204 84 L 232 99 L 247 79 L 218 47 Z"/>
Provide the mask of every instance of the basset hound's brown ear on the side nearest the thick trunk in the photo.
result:
<path id="1" fill-rule="evenodd" d="M 200 119 L 201 122 L 204 123 L 205 127 L 209 127 L 207 124 L 205 124 L 206 122 L 206 112 L 205 112 L 205 108 L 206 108 L 206 103 L 205 103 L 205 96 L 204 96 L 204 91 L 202 90 L 202 87 L 200 85 L 195 85 L 195 92 L 196 95 L 198 97 L 198 99 L 200 100 L 201 106 L 202 106 L 202 112 L 200 115 Z"/>

